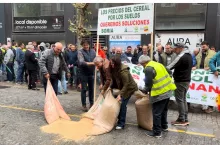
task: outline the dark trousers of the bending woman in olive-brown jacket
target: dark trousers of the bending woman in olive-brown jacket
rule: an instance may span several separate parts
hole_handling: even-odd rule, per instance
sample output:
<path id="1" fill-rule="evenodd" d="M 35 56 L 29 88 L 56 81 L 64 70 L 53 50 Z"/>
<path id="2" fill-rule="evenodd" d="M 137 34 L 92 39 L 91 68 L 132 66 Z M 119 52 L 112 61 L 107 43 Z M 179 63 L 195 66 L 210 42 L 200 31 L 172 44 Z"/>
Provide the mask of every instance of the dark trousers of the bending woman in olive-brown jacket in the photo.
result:
<path id="1" fill-rule="evenodd" d="M 122 96 L 121 96 L 122 97 Z M 117 126 L 120 126 L 120 127 L 123 127 L 125 126 L 125 121 L 126 121 L 126 114 L 127 114 L 127 104 L 128 104 L 128 101 L 131 97 L 128 97 L 128 98 L 121 98 L 121 108 L 120 108 L 120 112 L 119 112 L 119 115 L 118 115 L 118 125 Z"/>

